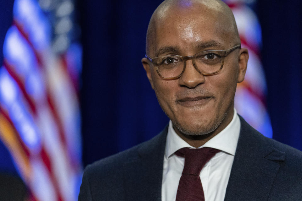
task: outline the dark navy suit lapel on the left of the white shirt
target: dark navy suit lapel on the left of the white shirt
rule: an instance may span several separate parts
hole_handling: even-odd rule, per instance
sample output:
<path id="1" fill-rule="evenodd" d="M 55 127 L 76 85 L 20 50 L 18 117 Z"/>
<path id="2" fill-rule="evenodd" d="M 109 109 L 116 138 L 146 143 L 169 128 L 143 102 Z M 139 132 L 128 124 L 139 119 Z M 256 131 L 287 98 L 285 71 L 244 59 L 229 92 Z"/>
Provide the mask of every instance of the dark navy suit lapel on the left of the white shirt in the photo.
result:
<path id="1" fill-rule="evenodd" d="M 161 200 L 163 161 L 168 126 L 138 149 L 138 158 L 124 164 L 126 200 Z"/>

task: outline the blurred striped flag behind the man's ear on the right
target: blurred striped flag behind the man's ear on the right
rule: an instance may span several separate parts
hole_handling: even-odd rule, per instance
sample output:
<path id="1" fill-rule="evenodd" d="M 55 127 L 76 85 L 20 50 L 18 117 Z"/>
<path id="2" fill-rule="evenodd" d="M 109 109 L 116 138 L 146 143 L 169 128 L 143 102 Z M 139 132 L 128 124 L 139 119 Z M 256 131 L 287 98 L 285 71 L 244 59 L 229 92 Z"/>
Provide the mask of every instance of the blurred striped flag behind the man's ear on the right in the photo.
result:
<path id="1" fill-rule="evenodd" d="M 261 26 L 250 8 L 256 0 L 224 0 L 232 9 L 238 27 L 241 46 L 249 50 L 245 79 L 237 85 L 235 108 L 251 126 L 272 138 L 271 120 L 266 110 L 266 80 L 260 60 Z"/>

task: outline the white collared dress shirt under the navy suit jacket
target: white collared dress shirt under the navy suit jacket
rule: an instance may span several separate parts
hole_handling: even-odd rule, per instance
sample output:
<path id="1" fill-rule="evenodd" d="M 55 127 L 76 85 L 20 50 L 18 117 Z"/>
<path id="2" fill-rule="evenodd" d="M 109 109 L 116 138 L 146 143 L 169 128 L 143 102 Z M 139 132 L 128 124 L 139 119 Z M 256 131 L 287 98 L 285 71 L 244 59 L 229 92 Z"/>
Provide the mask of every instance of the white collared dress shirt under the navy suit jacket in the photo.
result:
<path id="1" fill-rule="evenodd" d="M 226 128 L 201 146 L 221 150 L 205 164 L 199 175 L 204 189 L 205 201 L 224 200 L 239 132 L 240 120 L 234 108 L 233 119 Z M 194 148 L 176 134 L 170 120 L 164 157 L 162 201 L 175 201 L 176 199 L 177 187 L 185 160 L 175 155 L 174 152 L 183 147 Z"/>

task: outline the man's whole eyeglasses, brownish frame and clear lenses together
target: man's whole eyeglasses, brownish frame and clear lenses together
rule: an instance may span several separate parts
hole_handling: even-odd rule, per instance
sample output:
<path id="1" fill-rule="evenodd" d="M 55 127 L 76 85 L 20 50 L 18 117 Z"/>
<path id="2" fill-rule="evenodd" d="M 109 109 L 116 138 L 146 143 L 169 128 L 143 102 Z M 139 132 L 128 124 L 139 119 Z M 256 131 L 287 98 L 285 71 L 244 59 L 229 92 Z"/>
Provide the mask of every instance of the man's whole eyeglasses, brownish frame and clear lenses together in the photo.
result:
<path id="1" fill-rule="evenodd" d="M 182 57 L 179 55 L 166 55 L 155 58 L 147 57 L 155 66 L 156 72 L 164 79 L 177 79 L 182 76 L 186 68 L 186 61 L 192 59 L 194 68 L 203 75 L 218 73 L 224 62 L 224 57 L 241 45 L 236 45 L 227 50 L 207 50 L 198 52 L 193 56 Z"/>

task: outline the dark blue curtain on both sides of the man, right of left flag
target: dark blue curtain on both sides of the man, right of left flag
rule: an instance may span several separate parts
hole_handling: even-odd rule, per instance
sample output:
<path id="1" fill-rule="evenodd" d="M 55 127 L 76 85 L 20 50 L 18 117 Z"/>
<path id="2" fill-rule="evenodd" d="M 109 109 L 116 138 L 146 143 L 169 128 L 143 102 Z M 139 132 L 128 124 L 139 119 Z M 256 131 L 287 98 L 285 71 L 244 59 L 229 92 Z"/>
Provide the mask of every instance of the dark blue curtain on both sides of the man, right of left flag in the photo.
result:
<path id="1" fill-rule="evenodd" d="M 140 62 L 152 12 L 161 1 L 85 1 L 80 5 L 84 45 L 83 161 L 152 138 L 168 123 Z M 258 1 L 267 107 L 273 138 L 302 150 L 302 3 Z"/>

